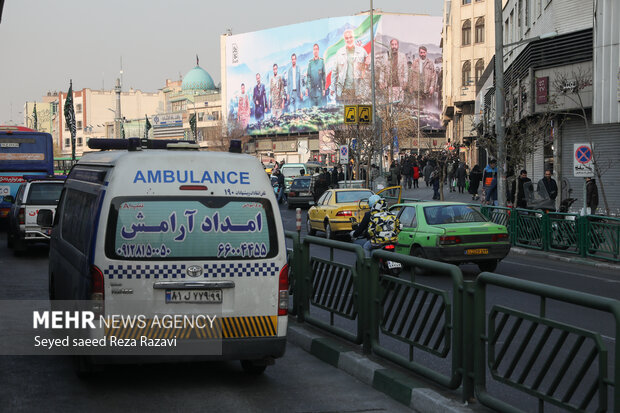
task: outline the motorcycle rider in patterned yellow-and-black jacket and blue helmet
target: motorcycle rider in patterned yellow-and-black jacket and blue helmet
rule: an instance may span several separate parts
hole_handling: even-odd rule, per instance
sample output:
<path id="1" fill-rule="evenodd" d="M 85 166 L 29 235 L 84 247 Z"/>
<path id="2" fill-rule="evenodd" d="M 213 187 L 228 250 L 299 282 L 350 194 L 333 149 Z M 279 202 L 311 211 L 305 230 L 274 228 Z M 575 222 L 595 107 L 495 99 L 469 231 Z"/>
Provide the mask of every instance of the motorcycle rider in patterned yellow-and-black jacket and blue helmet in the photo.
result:
<path id="1" fill-rule="evenodd" d="M 368 206 L 370 210 L 364 214 L 358 227 L 350 233 L 354 242 L 363 246 L 366 255 L 370 255 L 373 246 L 396 243 L 401 229 L 400 221 L 396 215 L 387 210 L 387 203 L 379 195 L 371 195 L 368 198 Z"/>

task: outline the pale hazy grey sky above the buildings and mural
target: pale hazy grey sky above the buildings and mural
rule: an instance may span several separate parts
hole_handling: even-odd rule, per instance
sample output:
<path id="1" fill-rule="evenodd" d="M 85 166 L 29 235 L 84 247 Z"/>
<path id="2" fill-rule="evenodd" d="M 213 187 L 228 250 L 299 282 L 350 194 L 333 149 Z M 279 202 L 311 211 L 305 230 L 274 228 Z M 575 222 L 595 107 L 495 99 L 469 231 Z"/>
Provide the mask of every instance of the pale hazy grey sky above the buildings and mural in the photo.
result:
<path id="1" fill-rule="evenodd" d="M 374 0 L 385 12 L 441 16 L 442 0 Z M 370 9 L 370 0 L 6 0 L 0 22 L 0 125 L 22 124 L 47 92 L 156 92 L 196 65 L 220 82 L 220 35 Z"/>

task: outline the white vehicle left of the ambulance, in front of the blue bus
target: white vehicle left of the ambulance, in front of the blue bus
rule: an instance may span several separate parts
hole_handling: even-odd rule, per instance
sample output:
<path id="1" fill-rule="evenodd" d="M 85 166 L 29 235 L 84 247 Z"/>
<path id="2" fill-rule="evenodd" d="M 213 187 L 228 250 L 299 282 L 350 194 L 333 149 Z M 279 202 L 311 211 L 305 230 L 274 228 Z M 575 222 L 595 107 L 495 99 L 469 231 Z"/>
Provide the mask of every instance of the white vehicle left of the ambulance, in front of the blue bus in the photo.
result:
<path id="1" fill-rule="evenodd" d="M 37 224 L 40 209 L 54 213 L 64 180 L 33 179 L 20 185 L 8 215 L 7 246 L 16 253 L 35 242 L 49 242 L 51 227 Z"/>

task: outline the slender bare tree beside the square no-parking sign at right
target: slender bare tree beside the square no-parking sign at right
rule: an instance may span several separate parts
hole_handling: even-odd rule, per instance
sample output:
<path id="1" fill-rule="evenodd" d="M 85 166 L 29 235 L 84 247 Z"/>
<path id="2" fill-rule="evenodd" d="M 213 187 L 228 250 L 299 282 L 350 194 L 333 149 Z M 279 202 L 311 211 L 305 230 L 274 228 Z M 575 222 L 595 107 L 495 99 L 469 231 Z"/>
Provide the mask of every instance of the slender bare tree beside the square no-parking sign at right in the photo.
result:
<path id="1" fill-rule="evenodd" d="M 601 188 L 601 195 L 603 197 L 603 203 L 605 205 L 605 212 L 610 215 L 611 210 L 609 203 L 607 202 L 607 195 L 605 194 L 605 185 L 603 182 L 603 175 L 607 170 L 612 167 L 611 160 L 603 160 L 601 154 L 594 146 L 592 139 L 592 132 L 590 131 L 590 121 L 586 114 L 586 108 L 584 106 L 584 91 L 586 88 L 592 86 L 592 71 L 590 69 L 577 68 L 570 73 L 559 73 L 556 75 L 553 82 L 553 89 L 555 92 L 555 99 L 564 97 L 577 106 L 576 111 L 571 112 L 558 112 L 560 115 L 577 116 L 579 117 L 586 129 L 586 139 L 592 150 L 592 172 L 598 179 L 598 183 Z"/>

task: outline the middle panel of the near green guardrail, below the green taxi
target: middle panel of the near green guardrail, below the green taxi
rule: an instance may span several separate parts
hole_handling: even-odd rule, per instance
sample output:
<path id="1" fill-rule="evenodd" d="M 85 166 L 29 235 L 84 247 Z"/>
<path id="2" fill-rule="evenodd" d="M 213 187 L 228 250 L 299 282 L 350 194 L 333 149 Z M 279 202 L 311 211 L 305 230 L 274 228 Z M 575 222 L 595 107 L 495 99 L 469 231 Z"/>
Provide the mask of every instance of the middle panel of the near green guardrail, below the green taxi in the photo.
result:
<path id="1" fill-rule="evenodd" d="M 412 280 L 380 274 L 381 259 L 397 261 L 414 269 Z M 461 270 L 455 265 L 382 250 L 373 251 L 371 262 L 369 328 L 372 351 L 449 389 L 458 388 L 463 373 Z M 448 291 L 415 282 L 415 272 L 420 270 L 434 276 L 450 277 L 452 299 Z M 379 332 L 405 343 L 409 348 L 407 357 L 384 347 Z M 414 361 L 414 349 L 438 358 L 446 358 L 452 350 L 450 375 L 445 376 Z"/>

